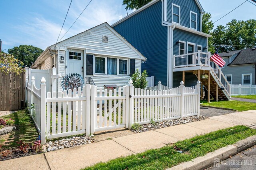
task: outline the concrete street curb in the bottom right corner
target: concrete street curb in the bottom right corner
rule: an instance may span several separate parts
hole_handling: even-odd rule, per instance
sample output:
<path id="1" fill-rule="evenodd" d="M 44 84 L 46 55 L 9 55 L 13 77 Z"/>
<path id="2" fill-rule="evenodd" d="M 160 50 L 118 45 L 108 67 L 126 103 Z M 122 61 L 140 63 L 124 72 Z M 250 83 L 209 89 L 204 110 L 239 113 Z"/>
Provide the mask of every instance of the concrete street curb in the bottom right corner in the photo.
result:
<path id="1" fill-rule="evenodd" d="M 229 158 L 229 156 L 234 156 L 254 145 L 256 145 L 256 135 L 238 141 L 234 145 L 228 145 L 215 150 L 214 152 L 210 152 L 205 156 L 194 158 L 191 161 L 183 162 L 166 170 L 202 170 Z"/>

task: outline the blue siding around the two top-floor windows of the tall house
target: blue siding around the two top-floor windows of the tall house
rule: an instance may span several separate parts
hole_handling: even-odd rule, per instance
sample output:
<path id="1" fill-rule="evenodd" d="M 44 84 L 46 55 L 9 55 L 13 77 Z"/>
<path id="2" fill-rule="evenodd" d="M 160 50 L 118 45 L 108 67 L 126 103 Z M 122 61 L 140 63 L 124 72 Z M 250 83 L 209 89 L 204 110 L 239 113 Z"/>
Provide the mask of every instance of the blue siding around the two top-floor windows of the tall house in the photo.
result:
<path id="1" fill-rule="evenodd" d="M 167 21 L 172 22 L 172 4 L 180 6 L 180 25 L 190 28 L 190 11 L 197 13 L 197 30 L 200 31 L 200 9 L 195 0 L 167 0 Z"/>

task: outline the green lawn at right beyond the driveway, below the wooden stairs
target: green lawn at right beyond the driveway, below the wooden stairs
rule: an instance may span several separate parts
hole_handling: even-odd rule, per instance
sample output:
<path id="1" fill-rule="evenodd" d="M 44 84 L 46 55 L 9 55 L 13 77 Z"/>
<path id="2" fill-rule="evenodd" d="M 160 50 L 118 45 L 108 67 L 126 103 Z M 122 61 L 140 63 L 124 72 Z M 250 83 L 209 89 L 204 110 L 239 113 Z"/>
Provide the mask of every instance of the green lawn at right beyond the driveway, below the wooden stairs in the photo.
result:
<path id="1" fill-rule="evenodd" d="M 246 110 L 256 110 L 256 104 L 251 102 L 240 102 L 236 100 L 231 101 L 211 101 L 208 103 L 207 101 L 201 101 L 202 106 L 214 106 L 214 107 L 223 107 L 228 109 L 235 109 L 238 111 L 246 111 Z"/>

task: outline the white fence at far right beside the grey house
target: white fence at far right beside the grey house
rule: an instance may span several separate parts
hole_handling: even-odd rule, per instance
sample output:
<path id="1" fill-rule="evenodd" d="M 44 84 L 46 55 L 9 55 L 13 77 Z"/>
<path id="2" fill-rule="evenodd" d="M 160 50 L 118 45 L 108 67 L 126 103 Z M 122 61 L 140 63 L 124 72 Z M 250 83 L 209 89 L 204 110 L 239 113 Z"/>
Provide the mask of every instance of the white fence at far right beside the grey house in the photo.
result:
<path id="1" fill-rule="evenodd" d="M 255 85 L 230 84 L 230 86 L 232 96 L 256 94 Z"/>

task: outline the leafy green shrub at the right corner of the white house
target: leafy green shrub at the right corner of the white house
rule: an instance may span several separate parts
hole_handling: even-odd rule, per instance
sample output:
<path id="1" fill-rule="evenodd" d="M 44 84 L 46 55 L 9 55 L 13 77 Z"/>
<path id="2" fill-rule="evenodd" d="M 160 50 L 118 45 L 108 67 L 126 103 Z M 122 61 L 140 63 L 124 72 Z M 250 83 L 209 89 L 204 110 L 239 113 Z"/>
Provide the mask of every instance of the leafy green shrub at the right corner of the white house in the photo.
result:
<path id="1" fill-rule="evenodd" d="M 148 82 L 146 80 L 148 76 L 147 70 L 144 70 L 141 75 L 139 70 L 137 69 L 134 74 L 132 74 L 132 85 L 135 88 L 146 88 Z"/>

